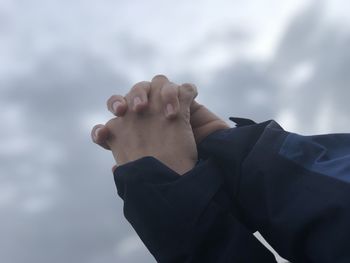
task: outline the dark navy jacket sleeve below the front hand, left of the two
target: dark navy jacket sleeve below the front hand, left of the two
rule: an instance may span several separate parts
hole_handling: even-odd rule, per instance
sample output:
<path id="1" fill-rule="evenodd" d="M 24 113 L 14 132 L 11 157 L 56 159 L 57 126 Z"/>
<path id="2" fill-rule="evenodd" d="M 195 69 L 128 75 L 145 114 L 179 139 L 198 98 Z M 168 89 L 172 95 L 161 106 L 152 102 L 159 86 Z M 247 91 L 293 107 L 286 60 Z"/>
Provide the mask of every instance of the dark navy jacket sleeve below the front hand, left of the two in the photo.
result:
<path id="1" fill-rule="evenodd" d="M 230 212 L 219 173 L 208 159 L 179 176 L 152 157 L 115 170 L 124 215 L 158 262 L 275 262 Z"/>

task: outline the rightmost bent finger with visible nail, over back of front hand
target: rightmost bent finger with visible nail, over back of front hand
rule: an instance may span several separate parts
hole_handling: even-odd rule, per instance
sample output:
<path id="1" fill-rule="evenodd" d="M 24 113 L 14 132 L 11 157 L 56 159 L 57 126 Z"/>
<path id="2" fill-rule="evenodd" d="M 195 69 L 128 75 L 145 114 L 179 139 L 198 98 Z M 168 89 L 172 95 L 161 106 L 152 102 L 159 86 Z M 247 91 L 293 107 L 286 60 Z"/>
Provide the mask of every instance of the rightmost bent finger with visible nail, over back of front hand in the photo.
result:
<path id="1" fill-rule="evenodd" d="M 179 112 L 178 91 L 179 86 L 170 82 L 166 83 L 160 91 L 165 117 L 168 119 L 175 118 Z"/>

